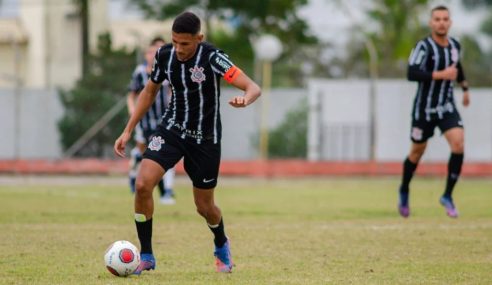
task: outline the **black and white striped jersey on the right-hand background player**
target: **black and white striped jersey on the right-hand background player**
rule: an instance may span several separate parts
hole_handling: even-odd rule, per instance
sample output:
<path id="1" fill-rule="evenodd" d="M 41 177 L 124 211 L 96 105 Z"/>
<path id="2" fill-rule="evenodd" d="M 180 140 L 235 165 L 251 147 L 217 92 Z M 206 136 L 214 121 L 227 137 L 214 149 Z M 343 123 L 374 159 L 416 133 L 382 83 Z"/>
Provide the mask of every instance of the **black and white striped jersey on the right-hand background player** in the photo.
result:
<path id="1" fill-rule="evenodd" d="M 432 79 L 432 72 L 455 64 L 458 68 L 457 81 L 465 80 L 460 63 L 461 46 L 451 37 L 448 38 L 448 43 L 448 46 L 440 46 L 429 36 L 419 41 L 410 54 L 408 80 L 418 81 L 412 111 L 415 120 L 441 119 L 444 113 L 453 112 L 456 109 L 453 82 Z"/>

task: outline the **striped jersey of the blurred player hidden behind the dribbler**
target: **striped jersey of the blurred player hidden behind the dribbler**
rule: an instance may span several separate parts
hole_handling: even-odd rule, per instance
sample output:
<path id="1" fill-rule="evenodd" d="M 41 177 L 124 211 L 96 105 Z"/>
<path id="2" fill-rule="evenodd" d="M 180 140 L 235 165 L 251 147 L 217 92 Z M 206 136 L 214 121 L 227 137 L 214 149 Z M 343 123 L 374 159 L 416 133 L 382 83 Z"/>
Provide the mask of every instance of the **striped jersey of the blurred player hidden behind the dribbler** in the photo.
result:
<path id="1" fill-rule="evenodd" d="M 145 84 L 149 79 L 149 74 L 146 71 L 146 64 L 139 64 L 132 74 L 132 79 L 130 81 L 129 90 L 137 94 L 142 91 Z M 161 85 L 159 93 L 156 95 L 154 103 L 150 106 L 149 110 L 139 122 L 140 127 L 144 131 L 155 130 L 162 120 L 162 116 L 166 111 L 169 104 L 169 85 L 167 82 Z"/>

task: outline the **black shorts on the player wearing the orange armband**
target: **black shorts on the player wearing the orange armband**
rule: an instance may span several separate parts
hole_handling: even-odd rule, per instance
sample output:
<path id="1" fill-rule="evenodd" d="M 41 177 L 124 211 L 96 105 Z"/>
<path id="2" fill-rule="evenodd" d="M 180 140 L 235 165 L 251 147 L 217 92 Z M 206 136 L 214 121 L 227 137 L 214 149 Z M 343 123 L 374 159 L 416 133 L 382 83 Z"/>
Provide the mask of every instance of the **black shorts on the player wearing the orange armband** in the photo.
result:
<path id="1" fill-rule="evenodd" d="M 211 189 L 217 186 L 220 143 L 203 140 L 197 144 L 194 139 L 182 139 L 172 130 L 159 127 L 149 141 L 143 158 L 159 163 L 166 171 L 184 158 L 184 169 L 194 187 Z"/>

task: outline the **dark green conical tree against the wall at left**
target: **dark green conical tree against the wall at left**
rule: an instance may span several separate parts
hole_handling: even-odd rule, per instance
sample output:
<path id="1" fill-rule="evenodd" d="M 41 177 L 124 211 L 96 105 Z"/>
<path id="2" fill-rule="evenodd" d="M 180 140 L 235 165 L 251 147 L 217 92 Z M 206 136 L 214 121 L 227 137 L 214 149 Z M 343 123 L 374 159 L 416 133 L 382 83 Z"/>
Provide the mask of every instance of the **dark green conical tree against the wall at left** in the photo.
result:
<path id="1" fill-rule="evenodd" d="M 112 106 L 126 95 L 130 74 L 135 67 L 135 53 L 123 49 L 112 50 L 111 38 L 99 38 L 98 51 L 89 58 L 89 73 L 84 74 L 72 90 L 61 90 L 65 108 L 58 122 L 64 149 L 72 146 Z M 128 116 L 126 110 L 105 126 L 77 156 L 110 155 L 112 145 Z"/>

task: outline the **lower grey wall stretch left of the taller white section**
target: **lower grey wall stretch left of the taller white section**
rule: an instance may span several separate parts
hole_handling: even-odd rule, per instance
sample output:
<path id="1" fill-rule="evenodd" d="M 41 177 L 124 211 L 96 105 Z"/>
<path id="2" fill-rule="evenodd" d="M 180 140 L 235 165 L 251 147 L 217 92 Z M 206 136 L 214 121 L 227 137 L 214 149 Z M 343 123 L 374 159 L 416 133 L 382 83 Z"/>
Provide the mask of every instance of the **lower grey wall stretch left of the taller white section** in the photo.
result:
<path id="1" fill-rule="evenodd" d="M 222 92 L 222 157 L 254 159 L 257 157 L 261 100 L 244 109 L 231 107 L 228 100 L 239 94 L 235 89 L 224 89 Z M 63 107 L 56 92 L 23 90 L 18 97 L 19 123 L 16 123 L 14 98 L 13 89 L 0 89 L 0 159 L 15 158 L 16 145 L 19 158 L 60 158 L 62 150 L 57 121 L 63 115 Z M 269 126 L 276 126 L 285 112 L 306 98 L 307 94 L 302 89 L 272 91 Z"/>

